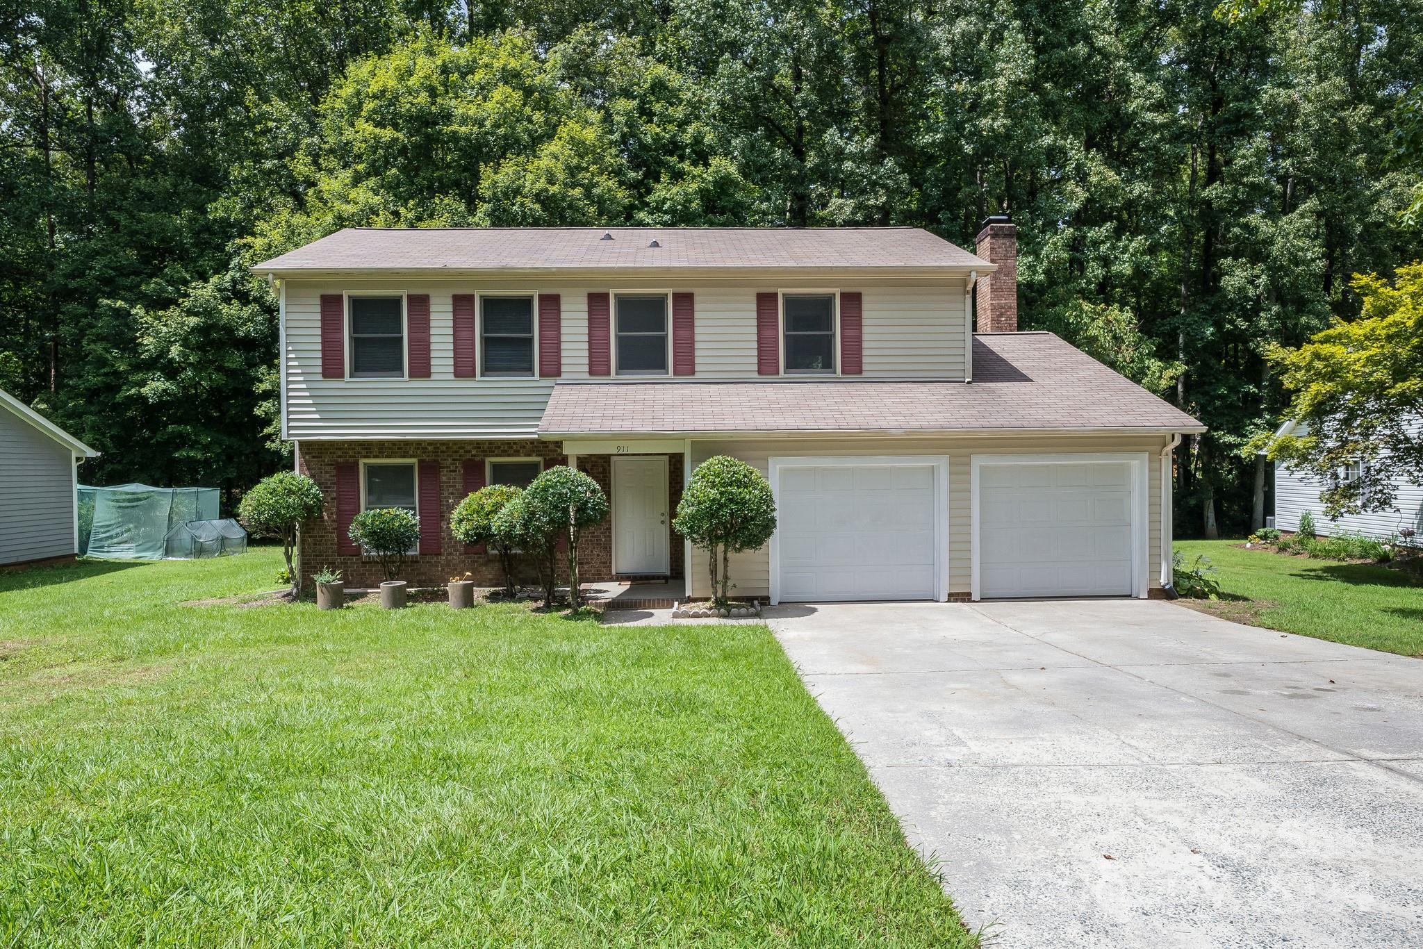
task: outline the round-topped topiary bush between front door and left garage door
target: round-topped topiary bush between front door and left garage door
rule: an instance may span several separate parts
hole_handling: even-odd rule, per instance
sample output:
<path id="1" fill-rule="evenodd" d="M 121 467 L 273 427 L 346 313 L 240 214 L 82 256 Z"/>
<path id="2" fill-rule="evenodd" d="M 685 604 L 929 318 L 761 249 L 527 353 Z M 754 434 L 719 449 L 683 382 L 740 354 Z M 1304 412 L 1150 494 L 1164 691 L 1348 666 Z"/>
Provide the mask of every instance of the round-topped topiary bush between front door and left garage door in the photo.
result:
<path id="1" fill-rule="evenodd" d="M 744 461 L 707 458 L 692 472 L 672 526 L 707 552 L 712 596 L 724 608 L 733 589 L 730 555 L 754 551 L 776 532 L 771 485 Z"/>

